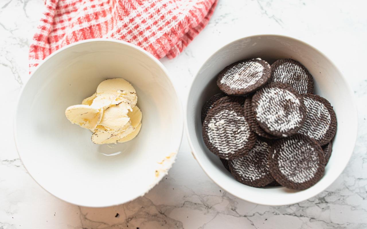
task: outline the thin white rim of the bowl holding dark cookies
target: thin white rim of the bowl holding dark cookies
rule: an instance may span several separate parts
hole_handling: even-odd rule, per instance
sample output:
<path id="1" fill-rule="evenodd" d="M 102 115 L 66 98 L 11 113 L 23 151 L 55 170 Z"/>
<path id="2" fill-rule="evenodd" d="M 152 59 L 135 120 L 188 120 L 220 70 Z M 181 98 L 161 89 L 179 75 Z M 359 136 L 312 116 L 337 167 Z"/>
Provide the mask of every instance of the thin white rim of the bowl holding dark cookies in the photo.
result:
<path id="1" fill-rule="evenodd" d="M 192 143 L 192 140 L 191 140 L 191 137 L 190 137 L 190 134 L 189 134 L 189 125 L 188 125 L 188 108 L 192 106 L 192 104 L 189 103 L 189 100 L 187 99 L 186 101 L 186 106 L 185 106 L 185 132 L 186 132 L 186 136 L 188 138 L 188 142 L 189 142 L 189 145 L 190 145 L 190 148 L 192 150 L 192 155 L 194 157 L 194 159 L 196 160 L 197 163 L 199 163 L 201 169 L 206 173 L 206 175 L 215 183 L 217 184 L 219 187 L 221 187 L 222 189 L 224 189 L 225 191 L 229 192 L 231 195 L 239 198 L 239 199 L 242 199 L 242 200 L 246 200 L 248 202 L 251 202 L 251 203 L 255 203 L 255 204 L 260 204 L 260 205 L 267 205 L 267 206 L 284 206 L 284 205 L 291 205 L 291 204 L 296 204 L 296 203 L 299 203 L 299 202 L 302 202 L 304 200 L 308 200 L 316 195 L 318 195 L 319 193 L 323 192 L 325 189 L 327 189 L 331 184 L 333 184 L 333 182 L 340 176 L 340 174 L 344 171 L 344 169 L 346 168 L 346 166 L 348 165 L 348 162 L 353 154 L 353 151 L 354 151 L 354 148 L 355 148 L 355 145 L 356 145 L 356 140 L 357 140 L 357 132 L 358 132 L 358 110 L 357 110 L 357 106 L 356 106 L 356 100 L 355 100 L 355 95 L 354 93 L 352 93 L 352 88 L 350 87 L 348 81 L 346 80 L 345 76 L 342 74 L 342 72 L 339 70 L 339 68 L 334 64 L 334 62 L 328 58 L 323 52 L 321 52 L 319 49 L 313 47 L 312 45 L 302 41 L 302 40 L 299 40 L 297 38 L 294 38 L 294 37 L 289 37 L 289 36 L 284 36 L 284 35 L 281 35 L 281 34 L 267 34 L 267 33 L 264 33 L 264 34 L 255 34 L 255 35 L 251 35 L 251 36 L 246 36 L 246 37 L 241 37 L 241 38 L 236 38 L 235 40 L 232 40 L 224 45 L 222 45 L 220 48 L 218 48 L 216 51 L 214 51 L 212 54 L 210 54 L 208 56 L 208 58 L 203 62 L 203 64 L 201 65 L 200 69 L 196 72 L 195 74 L 195 77 L 193 78 L 192 80 L 192 84 L 189 88 L 189 91 L 188 91 L 188 95 L 190 94 L 190 92 L 192 91 L 193 89 L 193 83 L 195 82 L 195 80 L 197 79 L 199 73 L 203 70 L 203 67 L 204 67 L 204 64 L 206 64 L 208 62 L 208 60 L 210 60 L 213 56 L 217 55 L 217 53 L 219 51 L 221 51 L 223 48 L 225 48 L 226 46 L 232 44 L 232 43 L 235 43 L 237 41 L 240 41 L 240 40 L 244 40 L 244 39 L 248 39 L 248 38 L 255 38 L 255 37 L 265 37 L 265 36 L 273 36 L 273 37 L 280 37 L 280 38 L 286 38 L 286 39 L 290 39 L 290 40 L 294 40 L 294 41 L 297 41 L 298 43 L 301 43 L 303 45 L 306 45 L 310 48 L 313 48 L 315 49 L 316 52 L 318 52 L 321 56 L 323 56 L 326 60 L 328 60 L 331 64 L 333 64 L 333 66 L 335 67 L 335 70 L 341 75 L 341 78 L 342 80 L 344 81 L 344 84 L 346 86 L 346 89 L 348 90 L 349 94 L 351 95 L 352 97 L 352 101 L 350 101 L 350 103 L 352 103 L 352 107 L 353 107 L 353 110 L 354 110 L 354 113 L 355 113 L 355 117 L 351 117 L 352 120 L 355 120 L 354 123 L 353 123 L 353 126 L 354 126 L 354 129 L 356 130 L 355 133 L 351 133 L 350 136 L 351 136 L 351 143 L 353 144 L 353 148 L 349 154 L 349 158 L 348 160 L 345 160 L 345 163 L 343 165 L 341 165 L 343 167 L 343 169 L 341 169 L 340 171 L 338 171 L 338 173 L 336 175 L 334 175 L 334 179 L 331 179 L 329 182 L 327 182 L 327 185 L 322 189 L 320 190 L 319 192 L 316 192 L 316 193 L 312 193 L 312 195 L 310 196 L 307 196 L 305 198 L 300 198 L 298 201 L 287 201 L 287 200 L 284 200 L 284 203 L 279 203 L 279 204 L 266 204 L 266 203 L 262 203 L 262 202 L 257 202 L 257 201 L 253 201 L 251 200 L 251 198 L 243 198 L 243 197 L 240 197 L 238 195 L 235 195 L 233 194 L 232 192 L 230 192 L 229 190 L 226 189 L 226 187 L 224 186 L 221 186 L 219 185 L 215 179 L 213 177 L 211 177 L 210 175 L 210 172 L 207 171 L 206 168 L 204 168 L 203 166 L 203 163 L 201 162 L 200 158 L 198 157 L 198 155 L 200 154 L 200 149 L 195 149 L 193 147 L 193 143 Z"/>

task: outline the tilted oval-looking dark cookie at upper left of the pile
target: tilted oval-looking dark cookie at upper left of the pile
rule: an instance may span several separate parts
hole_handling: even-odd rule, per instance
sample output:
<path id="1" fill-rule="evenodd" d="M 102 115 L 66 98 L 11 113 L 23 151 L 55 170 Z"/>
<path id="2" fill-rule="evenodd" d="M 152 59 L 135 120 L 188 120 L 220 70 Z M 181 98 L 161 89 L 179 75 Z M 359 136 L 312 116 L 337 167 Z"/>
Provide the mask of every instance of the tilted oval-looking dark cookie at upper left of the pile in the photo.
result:
<path id="1" fill-rule="evenodd" d="M 245 59 L 225 67 L 218 75 L 218 87 L 228 95 L 246 95 L 264 86 L 271 77 L 265 60 Z"/>

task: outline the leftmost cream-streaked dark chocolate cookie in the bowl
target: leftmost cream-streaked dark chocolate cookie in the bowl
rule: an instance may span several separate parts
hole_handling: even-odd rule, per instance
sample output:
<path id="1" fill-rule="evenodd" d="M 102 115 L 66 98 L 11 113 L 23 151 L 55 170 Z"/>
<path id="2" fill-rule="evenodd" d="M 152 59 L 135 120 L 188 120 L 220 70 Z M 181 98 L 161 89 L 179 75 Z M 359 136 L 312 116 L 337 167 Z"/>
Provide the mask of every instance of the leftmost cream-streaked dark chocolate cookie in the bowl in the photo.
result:
<path id="1" fill-rule="evenodd" d="M 203 123 L 203 139 L 208 149 L 226 160 L 246 155 L 255 144 L 255 134 L 238 103 L 211 108 Z"/>

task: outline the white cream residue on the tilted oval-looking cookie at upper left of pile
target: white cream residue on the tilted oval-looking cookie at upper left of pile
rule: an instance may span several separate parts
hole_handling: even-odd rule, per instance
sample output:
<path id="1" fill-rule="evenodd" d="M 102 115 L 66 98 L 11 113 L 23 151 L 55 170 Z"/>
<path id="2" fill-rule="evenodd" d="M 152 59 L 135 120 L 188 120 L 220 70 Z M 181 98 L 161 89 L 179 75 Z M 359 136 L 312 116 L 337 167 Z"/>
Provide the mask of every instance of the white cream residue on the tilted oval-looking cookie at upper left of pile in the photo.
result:
<path id="1" fill-rule="evenodd" d="M 231 89 L 247 88 L 256 84 L 264 74 L 264 66 L 255 61 L 241 62 L 228 69 L 221 84 L 228 85 Z"/>

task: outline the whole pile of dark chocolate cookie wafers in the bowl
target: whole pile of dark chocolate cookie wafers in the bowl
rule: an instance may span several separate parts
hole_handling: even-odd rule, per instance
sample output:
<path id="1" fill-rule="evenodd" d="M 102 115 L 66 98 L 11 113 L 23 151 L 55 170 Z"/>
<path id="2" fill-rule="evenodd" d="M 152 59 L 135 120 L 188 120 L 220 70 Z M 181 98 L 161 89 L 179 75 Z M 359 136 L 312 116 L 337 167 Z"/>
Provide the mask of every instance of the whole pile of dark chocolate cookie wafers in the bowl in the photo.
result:
<path id="1" fill-rule="evenodd" d="M 203 139 L 242 184 L 307 189 L 324 174 L 337 119 L 292 59 L 246 59 L 219 75 L 222 93 L 201 110 Z"/>

